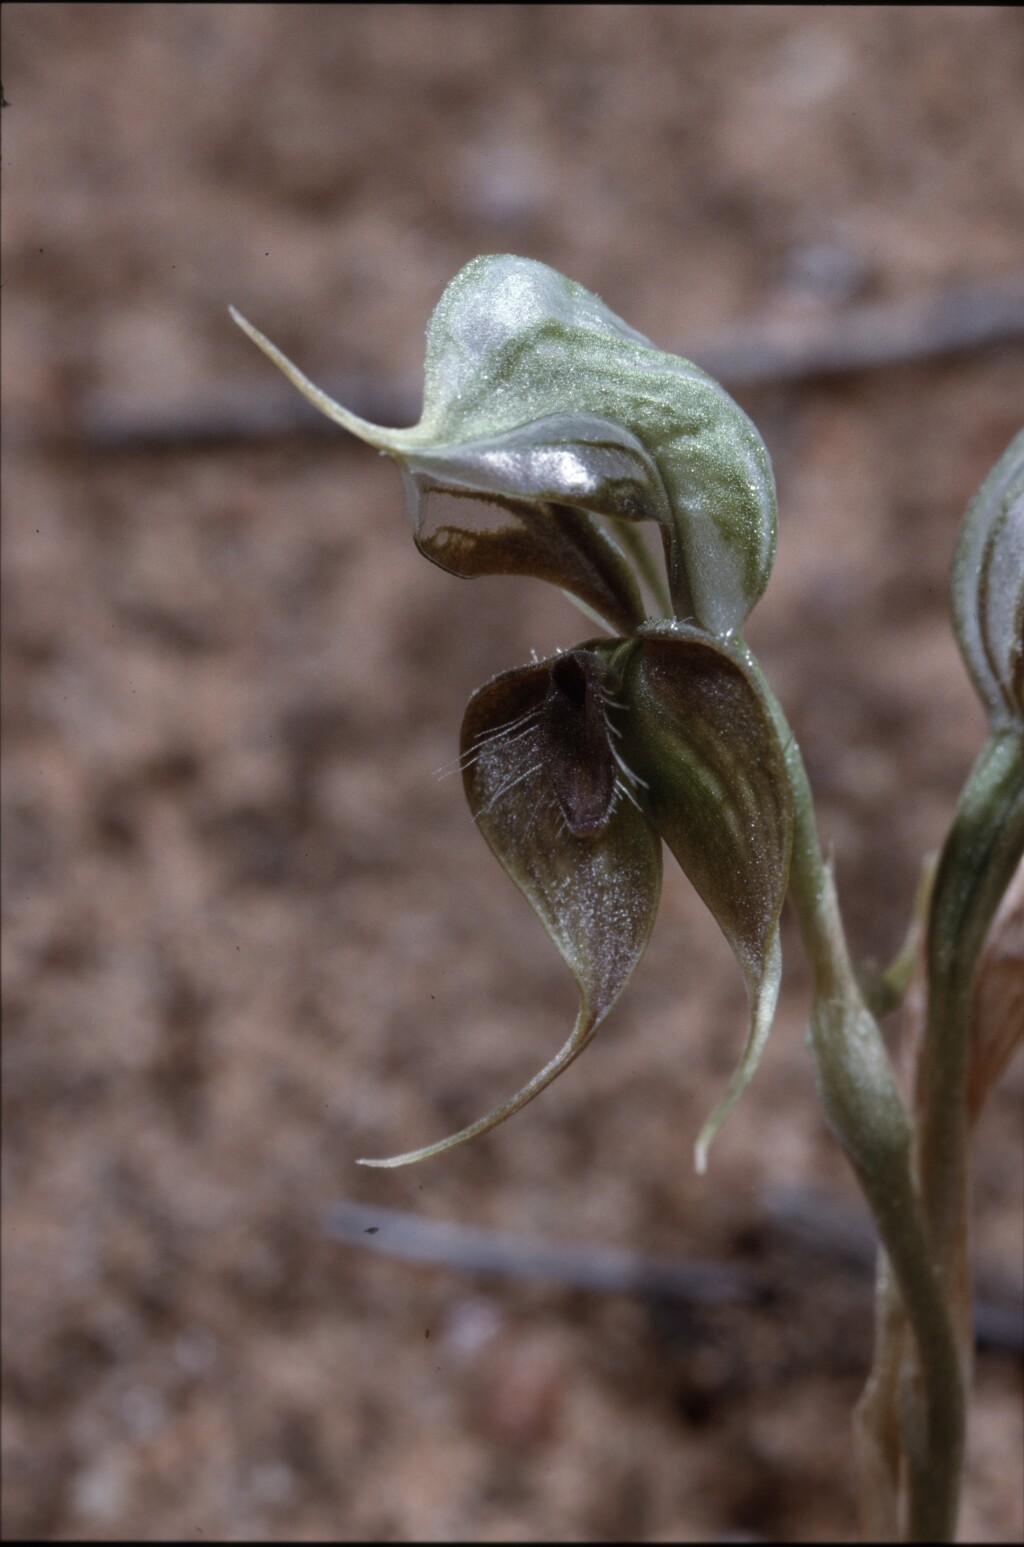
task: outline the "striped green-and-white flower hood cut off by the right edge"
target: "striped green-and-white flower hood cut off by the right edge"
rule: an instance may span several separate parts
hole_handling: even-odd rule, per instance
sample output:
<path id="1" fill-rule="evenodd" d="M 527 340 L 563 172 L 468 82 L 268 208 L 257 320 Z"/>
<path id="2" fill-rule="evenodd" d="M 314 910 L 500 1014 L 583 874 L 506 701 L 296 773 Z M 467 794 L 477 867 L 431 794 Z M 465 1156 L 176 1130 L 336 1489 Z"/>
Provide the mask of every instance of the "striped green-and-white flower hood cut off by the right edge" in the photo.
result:
<path id="1" fill-rule="evenodd" d="M 993 729 L 1007 718 L 1024 721 L 1024 430 L 967 507 L 950 599 Z"/>

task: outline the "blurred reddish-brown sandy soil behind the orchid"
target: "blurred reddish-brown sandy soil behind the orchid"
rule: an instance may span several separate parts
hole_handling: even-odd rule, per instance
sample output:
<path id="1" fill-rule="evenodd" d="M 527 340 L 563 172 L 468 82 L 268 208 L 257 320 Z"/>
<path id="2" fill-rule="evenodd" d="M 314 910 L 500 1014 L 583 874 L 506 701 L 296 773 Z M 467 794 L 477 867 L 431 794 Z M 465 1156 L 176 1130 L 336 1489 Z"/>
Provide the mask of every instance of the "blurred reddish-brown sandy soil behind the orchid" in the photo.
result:
<path id="1" fill-rule="evenodd" d="M 357 1170 L 571 1023 L 435 769 L 469 693 L 580 623 L 427 565 L 340 432 L 130 430 L 210 393 L 255 412 L 271 368 L 229 302 L 387 407 L 478 252 L 678 348 L 1012 274 L 1021 12 L 8 5 L 3 43 L 5 1535 L 848 1539 L 871 1286 L 783 1228 L 794 1190 L 862 1217 L 792 928 L 707 1179 L 744 1001 L 674 871 L 586 1058 L 473 1146 Z M 885 958 L 982 732 L 945 575 L 1024 359 L 736 394 L 781 506 L 750 639 Z M 976 1180 L 1010 1306 L 1022 1094 L 1018 1060 Z M 328 1239 L 339 1199 L 716 1259 L 759 1298 L 418 1267 Z M 1019 1355 L 982 1349 L 965 1538 L 1021 1539 L 1022 1448 Z"/>

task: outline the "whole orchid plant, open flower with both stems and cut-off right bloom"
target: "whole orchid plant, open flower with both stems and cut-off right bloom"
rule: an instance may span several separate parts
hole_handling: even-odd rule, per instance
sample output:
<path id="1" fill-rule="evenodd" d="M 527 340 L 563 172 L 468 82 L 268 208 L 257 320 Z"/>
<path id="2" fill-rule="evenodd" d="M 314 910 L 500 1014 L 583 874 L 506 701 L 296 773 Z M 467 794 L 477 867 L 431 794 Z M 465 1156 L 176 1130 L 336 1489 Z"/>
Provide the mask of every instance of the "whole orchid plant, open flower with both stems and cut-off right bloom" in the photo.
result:
<path id="1" fill-rule="evenodd" d="M 328 418 L 399 464 L 427 558 L 461 577 L 548 580 L 603 631 L 492 678 L 461 736 L 473 818 L 575 979 L 569 1038 L 478 1122 L 364 1165 L 461 1145 L 572 1063 L 643 954 L 667 845 L 750 1001 L 736 1072 L 696 1142 L 704 1170 L 766 1044 L 789 894 L 812 968 L 818 1095 L 883 1248 L 858 1408 L 868 1535 L 894 1538 L 905 1515 L 908 1541 L 951 1541 L 970 1368 L 968 1140 L 1022 1033 L 1019 1015 L 973 1007 L 1024 852 L 1024 432 L 971 501 L 953 562 L 953 623 L 988 735 L 922 890 L 908 1112 L 869 979 L 854 970 L 800 747 L 742 639 L 777 521 L 750 419 L 696 365 L 526 258 L 476 258 L 447 286 L 427 328 L 422 416 L 407 430 L 350 413 L 234 317 Z M 916 954 L 882 975 L 897 999 Z"/>

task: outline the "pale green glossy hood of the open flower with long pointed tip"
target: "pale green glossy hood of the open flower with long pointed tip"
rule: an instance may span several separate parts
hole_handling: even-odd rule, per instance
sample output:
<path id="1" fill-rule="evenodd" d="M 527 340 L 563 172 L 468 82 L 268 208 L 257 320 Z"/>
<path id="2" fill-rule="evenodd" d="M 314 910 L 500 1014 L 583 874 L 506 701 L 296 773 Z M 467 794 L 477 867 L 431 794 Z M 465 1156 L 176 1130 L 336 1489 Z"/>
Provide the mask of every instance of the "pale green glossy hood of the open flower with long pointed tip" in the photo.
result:
<path id="1" fill-rule="evenodd" d="M 455 275 L 427 328 L 424 412 L 408 430 L 348 413 L 234 316 L 311 402 L 404 466 L 418 529 L 424 487 L 659 521 L 676 611 L 722 636 L 764 591 L 775 483 L 747 415 L 546 265 L 483 257 Z"/>

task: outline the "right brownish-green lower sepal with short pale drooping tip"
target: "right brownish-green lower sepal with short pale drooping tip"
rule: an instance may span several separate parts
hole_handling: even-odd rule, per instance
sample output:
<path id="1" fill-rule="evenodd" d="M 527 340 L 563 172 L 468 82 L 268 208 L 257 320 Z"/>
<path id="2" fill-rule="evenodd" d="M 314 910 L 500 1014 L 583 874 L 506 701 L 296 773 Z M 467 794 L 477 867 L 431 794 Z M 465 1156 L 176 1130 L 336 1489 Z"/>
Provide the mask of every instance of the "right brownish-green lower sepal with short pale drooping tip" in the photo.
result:
<path id="1" fill-rule="evenodd" d="M 792 809 L 772 718 L 730 647 L 698 630 L 645 625 L 625 668 L 622 756 L 647 786 L 660 835 L 715 914 L 750 998 L 732 1083 L 698 1139 L 712 1139 L 750 1081 L 781 978 L 778 917 L 789 882 Z"/>

